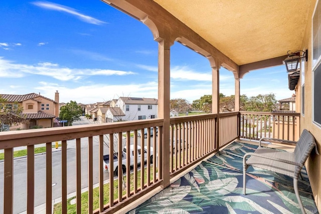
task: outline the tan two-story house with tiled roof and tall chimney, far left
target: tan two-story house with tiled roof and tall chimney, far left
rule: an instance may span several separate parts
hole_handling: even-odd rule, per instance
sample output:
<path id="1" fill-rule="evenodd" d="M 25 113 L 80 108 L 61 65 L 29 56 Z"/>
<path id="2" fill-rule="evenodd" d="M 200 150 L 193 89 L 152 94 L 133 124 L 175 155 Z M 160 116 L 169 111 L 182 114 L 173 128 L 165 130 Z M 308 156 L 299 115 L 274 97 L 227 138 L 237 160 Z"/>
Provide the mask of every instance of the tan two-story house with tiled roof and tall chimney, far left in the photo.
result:
<path id="1" fill-rule="evenodd" d="M 20 124 L 11 127 L 11 130 L 54 127 L 54 119 L 59 116 L 58 91 L 55 93 L 55 100 L 42 96 L 40 93 L 0 94 L 0 96 L 7 99 L 9 105 L 18 102 L 24 109 L 22 114 L 30 120 L 29 124 Z"/>

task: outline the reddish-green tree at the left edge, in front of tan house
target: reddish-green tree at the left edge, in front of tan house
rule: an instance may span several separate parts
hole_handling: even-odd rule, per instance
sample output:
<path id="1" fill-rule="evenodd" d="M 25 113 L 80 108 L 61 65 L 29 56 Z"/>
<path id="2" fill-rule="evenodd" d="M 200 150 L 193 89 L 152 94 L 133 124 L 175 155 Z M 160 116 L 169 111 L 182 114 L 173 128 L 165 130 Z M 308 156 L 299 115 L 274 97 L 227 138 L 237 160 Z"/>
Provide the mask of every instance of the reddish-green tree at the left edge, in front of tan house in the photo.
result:
<path id="1" fill-rule="evenodd" d="M 23 107 L 18 102 L 8 103 L 8 100 L 0 96 L 0 131 L 7 130 L 19 124 L 29 123 L 25 115 L 22 115 Z"/>

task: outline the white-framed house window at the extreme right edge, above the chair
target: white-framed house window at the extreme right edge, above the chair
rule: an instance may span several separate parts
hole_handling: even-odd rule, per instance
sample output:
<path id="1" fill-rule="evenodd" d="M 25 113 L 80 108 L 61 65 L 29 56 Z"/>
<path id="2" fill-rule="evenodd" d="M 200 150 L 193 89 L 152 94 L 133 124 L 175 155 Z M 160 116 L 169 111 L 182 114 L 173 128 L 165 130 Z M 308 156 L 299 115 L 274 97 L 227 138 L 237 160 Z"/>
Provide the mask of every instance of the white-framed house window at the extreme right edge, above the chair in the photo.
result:
<path id="1" fill-rule="evenodd" d="M 313 122 L 321 126 L 321 1 L 318 1 L 312 18 L 312 76 Z"/>

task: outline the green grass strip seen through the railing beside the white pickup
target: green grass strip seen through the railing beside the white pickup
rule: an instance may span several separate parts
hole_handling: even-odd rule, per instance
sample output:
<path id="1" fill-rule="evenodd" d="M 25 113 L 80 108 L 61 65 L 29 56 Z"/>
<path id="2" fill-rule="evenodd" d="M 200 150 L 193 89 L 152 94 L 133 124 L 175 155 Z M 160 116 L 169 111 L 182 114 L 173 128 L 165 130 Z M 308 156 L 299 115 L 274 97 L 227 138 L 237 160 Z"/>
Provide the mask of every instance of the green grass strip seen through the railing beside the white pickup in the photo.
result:
<path id="1" fill-rule="evenodd" d="M 152 180 L 152 167 L 150 167 L 150 179 Z M 144 170 L 144 180 L 147 179 L 147 169 Z M 124 176 L 126 181 L 126 176 Z M 133 173 L 130 174 L 130 190 L 134 189 Z M 138 188 L 140 186 L 140 170 L 137 172 Z M 104 184 L 104 204 L 109 203 L 109 183 Z M 126 190 L 122 191 L 122 195 L 126 194 Z M 76 213 L 76 204 L 70 204 L 70 201 L 76 197 L 67 200 L 67 213 Z M 118 179 L 114 180 L 114 199 L 118 198 Z M 93 189 L 93 209 L 99 208 L 99 187 Z M 62 213 L 62 203 L 54 205 L 54 214 Z M 88 213 L 88 191 L 81 194 L 81 213 Z"/>

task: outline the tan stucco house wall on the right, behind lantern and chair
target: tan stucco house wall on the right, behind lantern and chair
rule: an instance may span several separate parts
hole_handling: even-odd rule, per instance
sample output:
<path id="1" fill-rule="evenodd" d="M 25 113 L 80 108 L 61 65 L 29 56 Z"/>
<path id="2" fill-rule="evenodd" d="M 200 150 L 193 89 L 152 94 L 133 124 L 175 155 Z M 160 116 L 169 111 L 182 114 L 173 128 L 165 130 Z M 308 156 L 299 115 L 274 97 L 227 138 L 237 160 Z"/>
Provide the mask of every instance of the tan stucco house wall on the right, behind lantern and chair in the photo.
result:
<path id="1" fill-rule="evenodd" d="M 320 0 L 319 0 L 320 1 Z M 304 77 L 304 116 L 301 115 L 301 132 L 303 129 L 307 129 L 310 131 L 316 141 L 318 151 L 321 154 L 321 128 L 312 122 L 312 106 L 313 106 L 313 100 L 312 100 L 312 57 L 311 57 L 311 24 L 312 24 L 312 13 L 315 7 L 316 1 L 313 0 L 310 5 L 310 12 L 308 16 L 308 22 L 306 25 L 305 35 L 302 42 L 302 47 L 308 49 L 308 62 L 305 63 L 305 77 Z M 298 83 L 298 86 L 300 87 L 300 83 Z M 321 108 L 316 111 L 321 111 Z M 321 210 L 321 156 L 316 155 L 315 151 L 312 151 L 310 157 L 308 158 L 306 162 L 306 168 L 309 175 L 309 180 L 311 183 L 315 203 L 319 210 Z"/>

